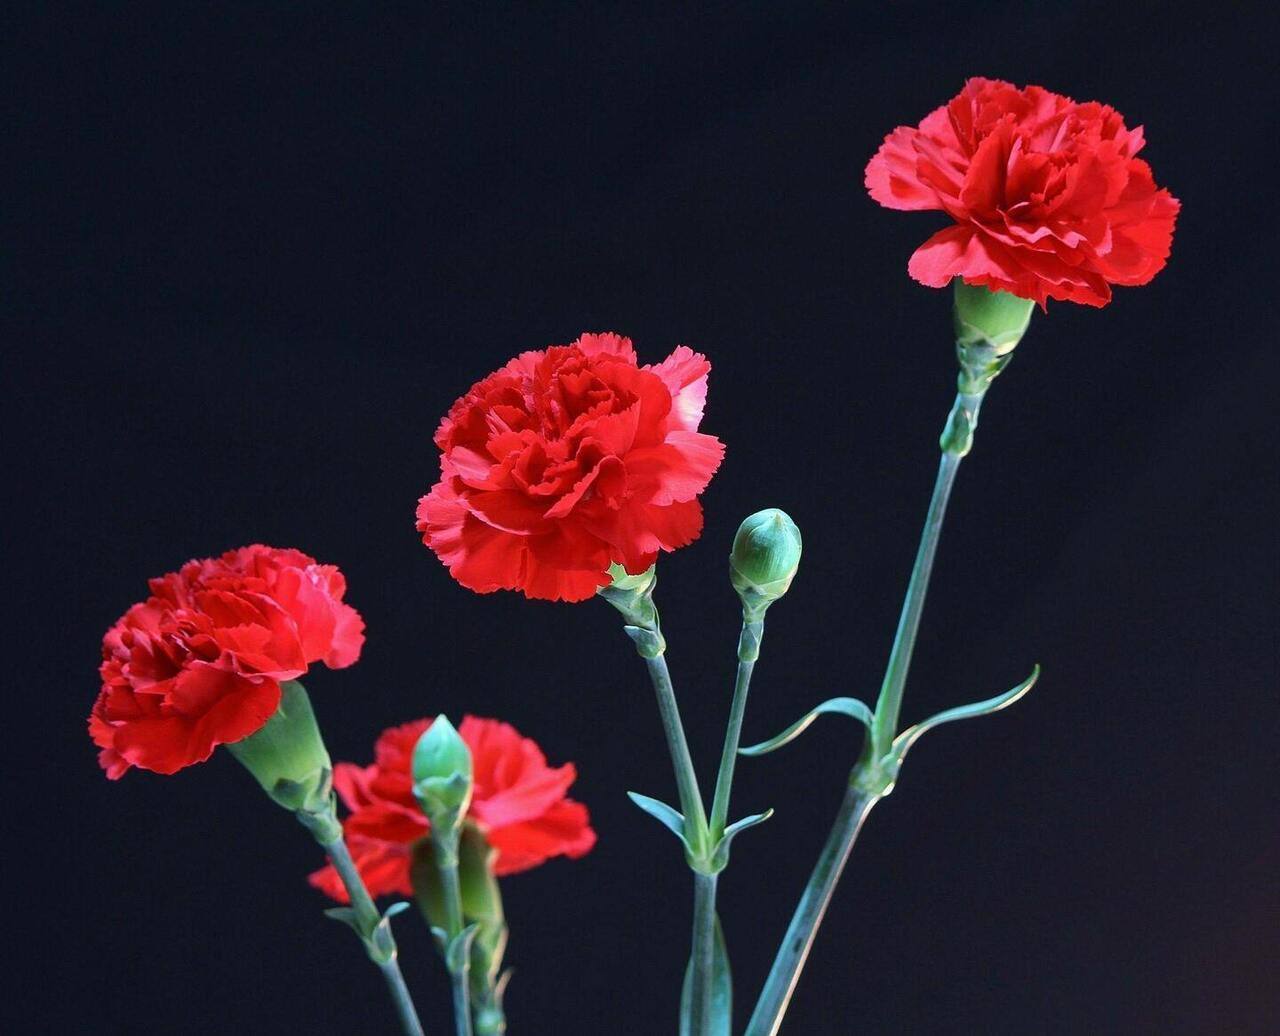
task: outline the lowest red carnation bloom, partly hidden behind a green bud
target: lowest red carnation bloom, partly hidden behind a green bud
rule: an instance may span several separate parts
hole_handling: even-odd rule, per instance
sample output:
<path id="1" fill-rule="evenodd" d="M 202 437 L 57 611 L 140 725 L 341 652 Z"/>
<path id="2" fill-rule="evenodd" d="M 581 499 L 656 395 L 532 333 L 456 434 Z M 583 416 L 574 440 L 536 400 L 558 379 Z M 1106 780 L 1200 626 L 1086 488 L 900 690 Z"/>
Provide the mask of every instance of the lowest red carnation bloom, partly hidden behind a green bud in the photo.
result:
<path id="1" fill-rule="evenodd" d="M 431 726 L 417 720 L 383 731 L 372 766 L 338 763 L 333 784 L 351 811 L 343 823 L 370 895 L 412 895 L 412 846 L 430 825 L 413 798 L 413 745 Z M 509 724 L 466 716 L 458 734 L 471 749 L 475 788 L 467 820 L 498 850 L 494 873 L 527 871 L 552 857 L 577 858 L 595 845 L 586 807 L 564 797 L 577 777 L 572 763 L 549 767 L 541 749 Z M 332 866 L 311 884 L 340 903 L 347 891 Z"/>

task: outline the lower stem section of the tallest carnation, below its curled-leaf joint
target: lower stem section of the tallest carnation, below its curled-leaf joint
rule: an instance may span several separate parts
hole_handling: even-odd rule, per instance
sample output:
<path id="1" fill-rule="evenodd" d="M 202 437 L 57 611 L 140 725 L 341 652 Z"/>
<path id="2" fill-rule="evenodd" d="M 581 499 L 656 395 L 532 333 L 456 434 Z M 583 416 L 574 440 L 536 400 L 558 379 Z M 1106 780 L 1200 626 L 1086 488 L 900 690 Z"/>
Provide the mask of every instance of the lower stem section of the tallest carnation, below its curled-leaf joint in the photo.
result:
<path id="1" fill-rule="evenodd" d="M 836 823 L 827 836 L 827 844 L 822 846 L 818 863 L 778 948 L 778 955 L 769 969 L 760 999 L 755 1003 L 751 1021 L 748 1022 L 746 1036 L 774 1036 L 782 1024 L 782 1016 L 800 980 L 800 971 L 809 957 L 818 926 L 827 913 L 836 882 L 840 881 L 845 862 L 854 848 L 854 840 L 867 814 L 879 799 L 879 795 L 868 794 L 851 784 L 845 789 Z"/>

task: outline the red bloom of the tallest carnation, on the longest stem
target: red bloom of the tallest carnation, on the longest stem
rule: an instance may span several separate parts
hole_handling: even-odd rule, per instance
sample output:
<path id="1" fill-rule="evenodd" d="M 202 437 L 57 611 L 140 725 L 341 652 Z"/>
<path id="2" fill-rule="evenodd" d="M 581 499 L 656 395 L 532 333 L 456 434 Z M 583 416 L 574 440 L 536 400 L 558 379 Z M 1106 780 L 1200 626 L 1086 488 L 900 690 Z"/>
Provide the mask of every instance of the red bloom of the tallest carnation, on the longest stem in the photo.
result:
<path id="1" fill-rule="evenodd" d="M 911 256 L 922 284 L 960 277 L 1042 307 L 1105 306 L 1112 284 L 1146 284 L 1169 257 L 1179 201 L 1135 158 L 1142 145 L 1142 127 L 1107 105 L 969 79 L 918 128 L 884 138 L 867 190 L 955 220 Z"/>

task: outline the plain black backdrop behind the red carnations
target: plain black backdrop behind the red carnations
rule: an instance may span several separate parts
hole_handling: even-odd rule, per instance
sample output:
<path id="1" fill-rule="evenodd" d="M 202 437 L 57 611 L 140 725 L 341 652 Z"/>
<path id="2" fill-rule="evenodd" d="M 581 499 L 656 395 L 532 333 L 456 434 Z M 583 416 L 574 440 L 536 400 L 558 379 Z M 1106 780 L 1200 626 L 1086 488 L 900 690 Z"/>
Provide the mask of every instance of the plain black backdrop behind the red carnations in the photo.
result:
<path id="1" fill-rule="evenodd" d="M 672 1032 L 689 878 L 623 797 L 673 797 L 643 667 L 603 603 L 448 579 L 413 531 L 431 434 L 584 329 L 705 351 L 728 455 L 659 592 L 704 780 L 750 511 L 785 507 L 806 553 L 746 736 L 872 697 L 954 371 L 948 297 L 906 275 L 942 220 L 877 207 L 861 173 L 970 74 L 1116 105 L 1184 211 L 1152 284 L 1051 304 L 988 400 L 906 718 L 1044 676 L 915 749 L 785 1031 L 1280 1030 L 1261 10 L 10 8 L 10 1031 L 392 1030 L 303 882 L 315 846 L 225 753 L 110 784 L 84 735 L 145 578 L 264 540 L 339 563 L 369 621 L 358 666 L 308 679 L 337 758 L 443 709 L 577 763 L 596 850 L 504 884 L 512 1032 Z M 733 812 L 778 809 L 722 881 L 740 1019 L 856 738 L 824 720 L 740 770 Z M 425 934 L 398 932 L 449 1031 Z"/>

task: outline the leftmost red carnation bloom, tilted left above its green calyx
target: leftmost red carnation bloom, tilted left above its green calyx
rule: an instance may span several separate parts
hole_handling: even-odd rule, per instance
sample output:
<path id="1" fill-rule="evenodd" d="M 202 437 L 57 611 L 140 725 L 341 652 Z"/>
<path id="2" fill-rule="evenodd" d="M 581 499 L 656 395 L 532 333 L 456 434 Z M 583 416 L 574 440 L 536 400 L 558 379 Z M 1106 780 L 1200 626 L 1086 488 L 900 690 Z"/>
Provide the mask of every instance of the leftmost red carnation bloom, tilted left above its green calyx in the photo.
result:
<path id="1" fill-rule="evenodd" d="M 102 638 L 88 730 L 113 780 L 133 766 L 173 773 L 204 762 L 262 727 L 282 680 L 312 662 L 349 666 L 365 643 L 342 572 L 301 551 L 242 547 L 150 588 Z"/>

